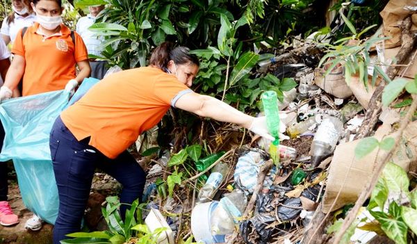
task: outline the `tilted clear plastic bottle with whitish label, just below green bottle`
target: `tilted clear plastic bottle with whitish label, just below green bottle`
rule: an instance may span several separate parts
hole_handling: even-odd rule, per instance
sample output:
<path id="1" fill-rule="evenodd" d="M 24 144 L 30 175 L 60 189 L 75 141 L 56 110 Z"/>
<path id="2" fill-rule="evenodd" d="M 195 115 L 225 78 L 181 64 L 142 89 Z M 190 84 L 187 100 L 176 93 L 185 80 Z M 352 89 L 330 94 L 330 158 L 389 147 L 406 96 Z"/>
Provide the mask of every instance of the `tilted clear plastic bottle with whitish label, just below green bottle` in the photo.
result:
<path id="1" fill-rule="evenodd" d="M 206 184 L 199 190 L 198 202 L 208 202 L 213 199 L 220 184 L 222 184 L 224 176 L 227 174 L 227 170 L 229 170 L 229 168 L 226 163 L 220 162 L 218 165 L 214 166 Z"/>

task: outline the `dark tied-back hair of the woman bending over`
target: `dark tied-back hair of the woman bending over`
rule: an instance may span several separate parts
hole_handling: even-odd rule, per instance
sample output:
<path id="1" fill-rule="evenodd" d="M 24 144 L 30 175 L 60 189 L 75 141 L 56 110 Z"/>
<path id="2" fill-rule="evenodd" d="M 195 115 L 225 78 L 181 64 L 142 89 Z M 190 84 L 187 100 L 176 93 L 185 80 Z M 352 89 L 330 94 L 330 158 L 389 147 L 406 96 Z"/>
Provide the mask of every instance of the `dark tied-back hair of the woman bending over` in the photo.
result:
<path id="1" fill-rule="evenodd" d="M 164 69 L 168 62 L 173 60 L 177 65 L 193 63 L 199 66 L 199 60 L 194 54 L 190 54 L 188 47 L 175 47 L 171 42 L 163 42 L 152 51 L 150 65 Z"/>

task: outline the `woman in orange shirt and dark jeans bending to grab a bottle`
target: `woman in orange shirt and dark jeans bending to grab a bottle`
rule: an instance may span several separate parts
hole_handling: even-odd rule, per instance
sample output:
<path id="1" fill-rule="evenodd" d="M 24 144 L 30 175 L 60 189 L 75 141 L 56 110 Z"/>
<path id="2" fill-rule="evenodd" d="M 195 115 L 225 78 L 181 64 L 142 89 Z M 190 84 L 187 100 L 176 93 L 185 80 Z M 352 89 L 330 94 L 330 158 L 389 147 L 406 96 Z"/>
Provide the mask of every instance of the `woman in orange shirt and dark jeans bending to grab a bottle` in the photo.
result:
<path id="1" fill-rule="evenodd" d="M 111 74 L 63 111 L 51 129 L 49 147 L 58 186 L 54 243 L 80 230 L 95 168 L 119 181 L 120 213 L 141 199 L 145 172 L 126 150 L 172 106 L 203 117 L 236 123 L 270 140 L 265 117 L 252 117 L 190 86 L 199 60 L 186 47 L 164 42 L 148 67 Z"/>

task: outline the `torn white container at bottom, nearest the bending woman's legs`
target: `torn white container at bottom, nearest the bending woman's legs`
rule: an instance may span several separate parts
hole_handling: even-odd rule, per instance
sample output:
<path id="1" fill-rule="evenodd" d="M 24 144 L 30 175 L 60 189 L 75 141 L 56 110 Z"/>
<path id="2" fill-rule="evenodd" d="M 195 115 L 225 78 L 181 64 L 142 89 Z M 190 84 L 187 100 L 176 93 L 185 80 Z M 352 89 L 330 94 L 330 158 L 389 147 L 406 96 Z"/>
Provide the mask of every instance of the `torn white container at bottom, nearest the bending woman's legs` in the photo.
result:
<path id="1" fill-rule="evenodd" d="M 155 231 L 155 229 L 161 227 L 166 228 L 165 231 L 161 232 L 161 234 L 158 236 L 156 243 L 174 244 L 174 234 L 172 234 L 172 229 L 158 209 L 151 209 L 145 218 L 145 224 L 152 233 Z"/>

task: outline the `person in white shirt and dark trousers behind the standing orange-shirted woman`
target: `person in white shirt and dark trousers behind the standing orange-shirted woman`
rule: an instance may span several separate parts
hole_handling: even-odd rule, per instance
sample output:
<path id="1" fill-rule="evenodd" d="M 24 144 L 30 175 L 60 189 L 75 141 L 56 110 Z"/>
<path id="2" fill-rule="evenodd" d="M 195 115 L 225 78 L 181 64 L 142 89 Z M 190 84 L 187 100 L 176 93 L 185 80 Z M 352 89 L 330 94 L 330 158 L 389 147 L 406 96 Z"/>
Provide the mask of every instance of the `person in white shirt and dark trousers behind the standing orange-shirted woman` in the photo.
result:
<path id="1" fill-rule="evenodd" d="M 95 23 L 97 15 L 99 15 L 101 10 L 104 10 L 104 5 L 90 6 L 88 10 L 90 10 L 90 14 L 81 17 L 79 21 L 76 23 L 76 33 L 79 33 L 79 35 L 81 35 L 81 38 L 83 38 L 89 56 L 101 56 L 101 51 L 103 51 L 103 49 L 100 47 L 100 45 L 101 42 L 103 42 L 104 38 L 98 37 L 94 32 L 90 31 L 88 28 L 90 28 L 90 26 L 92 26 L 92 24 Z M 104 74 L 106 74 L 106 71 L 108 70 L 106 67 L 107 62 L 96 60 L 96 58 L 94 57 L 90 57 L 88 60 L 90 61 L 91 67 L 90 77 L 99 80 L 103 79 Z"/>

